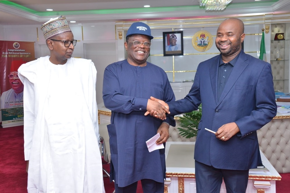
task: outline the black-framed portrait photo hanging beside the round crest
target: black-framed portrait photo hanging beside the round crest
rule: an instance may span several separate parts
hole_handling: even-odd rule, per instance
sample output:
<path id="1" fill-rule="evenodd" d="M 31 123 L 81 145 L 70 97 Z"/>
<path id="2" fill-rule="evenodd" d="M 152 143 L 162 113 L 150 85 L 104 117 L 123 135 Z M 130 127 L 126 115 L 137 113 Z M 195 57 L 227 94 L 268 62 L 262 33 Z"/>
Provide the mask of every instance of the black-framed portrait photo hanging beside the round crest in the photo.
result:
<path id="1" fill-rule="evenodd" d="M 183 56 L 183 31 L 163 32 L 163 55 Z"/>

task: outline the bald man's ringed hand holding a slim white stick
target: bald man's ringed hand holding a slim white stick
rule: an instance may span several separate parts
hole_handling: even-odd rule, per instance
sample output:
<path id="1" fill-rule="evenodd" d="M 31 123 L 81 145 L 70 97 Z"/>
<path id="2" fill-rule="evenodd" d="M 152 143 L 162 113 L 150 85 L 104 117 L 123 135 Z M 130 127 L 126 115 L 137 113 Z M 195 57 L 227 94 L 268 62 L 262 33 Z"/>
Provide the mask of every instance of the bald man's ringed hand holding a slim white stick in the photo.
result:
<path id="1" fill-rule="evenodd" d="M 228 141 L 235 134 L 240 132 L 238 125 L 233 123 L 226 123 L 218 128 L 218 131 L 215 133 L 215 136 L 221 141 Z"/>

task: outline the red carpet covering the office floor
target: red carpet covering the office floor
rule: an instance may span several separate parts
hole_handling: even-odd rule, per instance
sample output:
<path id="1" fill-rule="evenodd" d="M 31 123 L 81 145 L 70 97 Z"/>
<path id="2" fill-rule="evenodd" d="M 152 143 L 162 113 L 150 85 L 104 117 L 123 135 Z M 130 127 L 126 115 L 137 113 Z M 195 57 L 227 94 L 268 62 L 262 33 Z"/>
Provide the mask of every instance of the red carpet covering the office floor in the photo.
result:
<path id="1" fill-rule="evenodd" d="M 23 126 L 0 128 L 0 193 L 27 192 L 26 162 L 23 149 Z M 109 165 L 105 165 L 109 170 Z M 281 181 L 276 181 L 276 193 L 290 192 L 290 173 L 280 174 Z M 104 177 L 106 193 L 114 191 L 114 184 Z M 138 182 L 137 193 L 143 193 Z"/>

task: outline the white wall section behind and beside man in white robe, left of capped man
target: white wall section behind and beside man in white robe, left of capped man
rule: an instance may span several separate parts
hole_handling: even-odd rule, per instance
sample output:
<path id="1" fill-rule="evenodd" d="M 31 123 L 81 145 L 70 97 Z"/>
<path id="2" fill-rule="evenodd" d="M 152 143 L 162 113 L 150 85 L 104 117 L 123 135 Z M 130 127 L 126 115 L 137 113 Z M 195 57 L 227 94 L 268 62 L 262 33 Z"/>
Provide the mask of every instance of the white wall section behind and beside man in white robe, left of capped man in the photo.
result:
<path id="1" fill-rule="evenodd" d="M 2 29 L 3 28 L 3 29 Z M 97 69 L 97 103 L 102 103 L 104 69 L 117 61 L 115 22 L 70 24 L 74 39 L 78 40 L 73 57 L 91 59 Z M 50 54 L 40 26 L 0 26 L 0 39 L 35 42 L 35 57 Z"/>

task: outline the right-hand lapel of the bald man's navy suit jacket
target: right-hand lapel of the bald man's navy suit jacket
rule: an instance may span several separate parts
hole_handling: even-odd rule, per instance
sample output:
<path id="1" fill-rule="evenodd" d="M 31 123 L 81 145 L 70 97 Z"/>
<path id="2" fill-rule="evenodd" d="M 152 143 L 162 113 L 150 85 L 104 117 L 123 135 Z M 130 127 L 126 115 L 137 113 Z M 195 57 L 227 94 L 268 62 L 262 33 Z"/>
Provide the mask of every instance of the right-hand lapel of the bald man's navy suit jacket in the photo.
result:
<path id="1" fill-rule="evenodd" d="M 231 71 L 229 79 L 226 82 L 224 90 L 222 91 L 218 105 L 221 103 L 224 97 L 226 97 L 226 95 L 229 93 L 229 91 L 231 90 L 235 82 L 238 80 L 240 75 L 243 73 L 245 68 L 248 66 L 248 64 L 249 63 L 248 63 L 247 55 L 242 50 L 237 62 L 235 63 L 235 66 L 233 67 L 233 70 Z"/>

